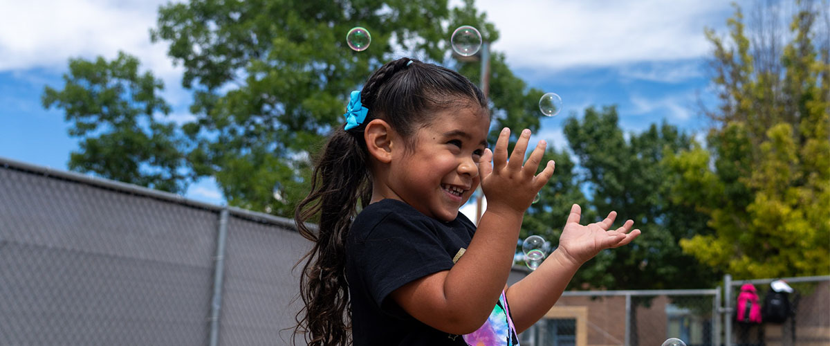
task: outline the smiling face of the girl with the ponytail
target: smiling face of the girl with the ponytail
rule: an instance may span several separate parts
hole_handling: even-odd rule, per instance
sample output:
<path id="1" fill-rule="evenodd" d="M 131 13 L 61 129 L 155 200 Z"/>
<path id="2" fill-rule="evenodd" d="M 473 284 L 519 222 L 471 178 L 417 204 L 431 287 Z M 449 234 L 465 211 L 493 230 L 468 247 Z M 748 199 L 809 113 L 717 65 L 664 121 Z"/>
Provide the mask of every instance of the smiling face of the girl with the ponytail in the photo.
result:
<path id="1" fill-rule="evenodd" d="M 389 197 L 442 222 L 454 220 L 478 187 L 489 129 L 490 117 L 477 106 L 439 112 L 417 130 L 413 148 L 393 156 L 388 184 L 396 196 Z"/>

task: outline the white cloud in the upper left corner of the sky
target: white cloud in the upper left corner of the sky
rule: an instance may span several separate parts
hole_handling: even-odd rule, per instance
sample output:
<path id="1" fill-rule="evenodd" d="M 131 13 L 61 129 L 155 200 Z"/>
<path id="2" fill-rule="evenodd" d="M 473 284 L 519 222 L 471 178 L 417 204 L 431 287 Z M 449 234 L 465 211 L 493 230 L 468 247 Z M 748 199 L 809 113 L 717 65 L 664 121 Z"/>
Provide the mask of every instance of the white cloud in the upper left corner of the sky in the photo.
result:
<path id="1" fill-rule="evenodd" d="M 138 56 L 145 69 L 178 84 L 182 72 L 163 43 L 149 40 L 159 5 L 166 0 L 32 0 L 4 2 L 0 20 L 0 71 L 62 71 L 70 58 L 112 59 L 118 51 Z"/>

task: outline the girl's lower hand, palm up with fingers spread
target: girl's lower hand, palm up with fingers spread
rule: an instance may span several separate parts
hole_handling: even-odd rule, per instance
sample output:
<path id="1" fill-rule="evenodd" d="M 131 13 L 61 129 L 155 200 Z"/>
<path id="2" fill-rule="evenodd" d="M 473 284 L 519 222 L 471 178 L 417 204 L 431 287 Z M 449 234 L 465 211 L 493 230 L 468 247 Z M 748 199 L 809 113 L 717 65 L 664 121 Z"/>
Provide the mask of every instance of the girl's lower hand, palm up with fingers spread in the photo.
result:
<path id="1" fill-rule="evenodd" d="M 626 245 L 640 235 L 640 230 L 631 231 L 634 225 L 632 220 L 626 221 L 622 227 L 608 231 L 617 217 L 617 212 L 608 213 L 608 217 L 601 222 L 584 226 L 579 224 L 581 217 L 582 209 L 578 204 L 574 204 L 568 222 L 562 230 L 562 236 L 559 236 L 559 249 L 577 265 L 590 260 L 599 251 Z"/>

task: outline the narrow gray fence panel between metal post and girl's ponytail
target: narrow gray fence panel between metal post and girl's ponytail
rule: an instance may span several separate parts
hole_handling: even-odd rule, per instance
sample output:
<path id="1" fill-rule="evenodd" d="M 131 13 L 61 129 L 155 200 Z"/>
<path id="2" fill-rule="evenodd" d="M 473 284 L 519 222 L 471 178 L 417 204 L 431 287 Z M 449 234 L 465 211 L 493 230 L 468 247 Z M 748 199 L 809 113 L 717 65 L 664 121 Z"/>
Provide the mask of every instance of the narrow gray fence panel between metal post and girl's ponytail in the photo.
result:
<path id="1" fill-rule="evenodd" d="M 310 241 L 296 231 L 239 217 L 230 217 L 227 228 L 220 344 L 291 344 L 301 303 L 292 304 L 300 268 L 291 267 Z"/>

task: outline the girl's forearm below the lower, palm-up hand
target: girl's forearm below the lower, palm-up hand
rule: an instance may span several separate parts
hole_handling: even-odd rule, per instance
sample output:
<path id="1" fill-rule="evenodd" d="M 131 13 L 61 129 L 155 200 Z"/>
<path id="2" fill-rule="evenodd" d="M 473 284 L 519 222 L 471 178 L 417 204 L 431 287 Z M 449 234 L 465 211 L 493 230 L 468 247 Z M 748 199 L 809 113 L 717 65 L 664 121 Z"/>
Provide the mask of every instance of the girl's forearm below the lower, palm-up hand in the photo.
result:
<path id="1" fill-rule="evenodd" d="M 556 304 L 581 264 L 557 249 L 535 271 L 506 292 L 516 331 L 521 333 L 544 317 Z"/>

